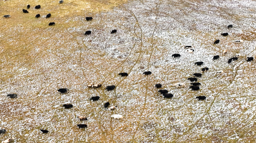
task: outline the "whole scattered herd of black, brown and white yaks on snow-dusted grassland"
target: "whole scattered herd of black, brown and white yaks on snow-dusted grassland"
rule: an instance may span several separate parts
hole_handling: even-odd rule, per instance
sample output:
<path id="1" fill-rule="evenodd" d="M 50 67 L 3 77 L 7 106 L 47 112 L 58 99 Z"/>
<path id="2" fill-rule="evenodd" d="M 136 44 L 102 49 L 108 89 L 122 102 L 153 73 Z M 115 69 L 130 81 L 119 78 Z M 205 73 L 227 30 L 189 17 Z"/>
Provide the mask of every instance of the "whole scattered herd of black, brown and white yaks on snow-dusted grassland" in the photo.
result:
<path id="1" fill-rule="evenodd" d="M 63 3 L 63 2 L 64 2 L 63 0 L 59 1 L 60 4 Z M 40 8 L 41 8 L 40 5 L 35 6 L 35 9 L 40 9 Z M 30 5 L 27 6 L 27 9 L 30 9 Z M 29 13 L 28 10 L 25 10 L 25 9 L 23 9 L 22 11 L 23 11 L 23 13 Z M 4 18 L 10 18 L 10 15 L 4 15 L 3 17 Z M 40 17 L 40 14 L 37 14 L 36 18 L 39 18 L 39 17 Z M 51 13 L 46 15 L 46 18 L 50 18 L 50 17 L 51 17 Z M 92 20 L 92 19 L 93 19 L 92 17 L 86 17 L 87 21 Z M 50 22 L 49 23 L 49 26 L 52 26 L 52 25 L 55 25 L 55 22 Z M 228 25 L 228 28 L 232 28 L 232 27 L 233 27 L 233 25 Z M 117 32 L 117 30 L 114 29 L 114 30 L 111 31 L 111 34 L 116 33 L 116 32 Z M 84 35 L 90 35 L 91 33 L 92 33 L 91 31 L 86 31 Z M 228 33 L 222 33 L 221 35 L 228 36 Z M 220 40 L 217 39 L 216 41 L 214 41 L 213 44 L 218 44 L 219 42 L 220 42 Z M 238 39 L 238 40 L 235 40 L 234 42 L 235 43 L 243 43 L 243 40 Z M 192 49 L 192 46 L 185 46 L 185 49 L 188 53 L 193 53 L 194 52 L 194 50 Z M 223 54 L 226 54 L 227 51 L 228 50 L 224 50 Z M 237 55 L 235 55 L 235 57 L 230 58 L 228 60 L 228 63 L 231 63 L 232 61 L 238 60 L 238 57 L 240 55 L 241 54 L 237 54 Z M 181 55 L 180 54 L 173 54 L 172 56 L 174 58 L 178 58 Z M 219 58 L 220 58 L 219 55 L 213 56 L 213 60 L 217 60 Z M 247 59 L 246 59 L 246 61 L 252 61 L 252 60 L 253 60 L 253 57 L 247 57 Z M 195 63 L 195 65 L 197 65 L 197 66 L 201 66 L 202 64 L 204 64 L 204 62 L 202 62 L 202 61 L 198 61 L 198 62 Z M 197 82 L 198 79 L 196 77 L 201 77 L 202 73 L 207 72 L 208 70 L 209 70 L 208 67 L 204 67 L 204 68 L 202 68 L 201 73 L 194 73 L 193 76 L 195 76 L 195 77 L 188 78 L 188 80 L 191 81 L 191 85 L 192 85 L 192 86 L 189 86 L 189 88 L 191 88 L 192 90 L 199 90 L 200 89 L 199 86 L 201 85 L 201 83 Z M 223 73 L 223 70 L 216 71 L 216 74 L 221 74 L 221 73 Z M 151 71 L 145 71 L 143 74 L 150 75 L 150 74 L 152 74 L 152 72 Z M 128 76 L 128 73 L 119 73 L 119 75 L 121 75 L 122 77 L 123 76 Z M 185 83 L 175 83 L 174 86 L 176 86 L 176 88 L 183 88 L 183 87 L 185 87 Z M 88 88 L 100 88 L 100 87 L 101 87 L 101 84 L 95 84 L 95 85 L 94 84 L 89 84 L 88 85 Z M 107 86 L 106 90 L 110 91 L 110 90 L 114 90 L 115 88 L 116 88 L 115 85 L 111 85 L 111 86 Z M 155 88 L 162 88 L 162 85 L 160 83 L 158 83 L 158 84 L 155 85 Z M 65 94 L 65 93 L 68 93 L 69 90 L 67 88 L 61 88 L 61 89 L 58 89 L 58 92 L 60 92 L 62 94 Z M 173 94 L 168 93 L 168 90 L 166 90 L 166 89 L 158 90 L 158 92 L 160 92 L 164 98 L 172 98 L 173 97 Z M 17 98 L 18 95 L 8 94 L 7 96 L 9 96 L 9 98 Z M 92 101 L 98 101 L 99 99 L 100 99 L 100 96 L 93 96 L 93 97 L 90 98 L 90 100 L 92 100 Z M 204 100 L 204 99 L 206 99 L 206 96 L 197 96 L 196 99 Z M 110 105 L 110 103 L 106 102 L 104 104 L 104 108 L 108 108 L 109 105 Z M 73 105 L 72 104 L 64 104 L 63 107 L 72 108 Z M 116 108 L 117 108 L 117 106 L 111 106 L 108 109 L 109 110 L 114 110 Z M 111 117 L 113 117 L 114 119 L 122 119 L 123 118 L 123 116 L 119 115 L 119 114 L 112 115 Z M 80 121 L 88 120 L 86 117 L 82 117 L 82 116 L 77 116 L 77 118 L 79 118 Z M 87 125 L 86 124 L 77 124 L 77 127 L 87 128 Z M 43 129 L 41 129 L 40 131 L 42 131 L 42 133 L 48 133 L 49 132 L 48 130 L 43 130 Z M 5 129 L 0 129 L 0 134 L 2 134 L 2 133 L 6 133 L 6 130 Z M 10 137 L 9 139 L 6 139 L 6 140 L 2 141 L 2 143 L 9 143 L 12 140 L 13 140 L 13 137 Z"/>

